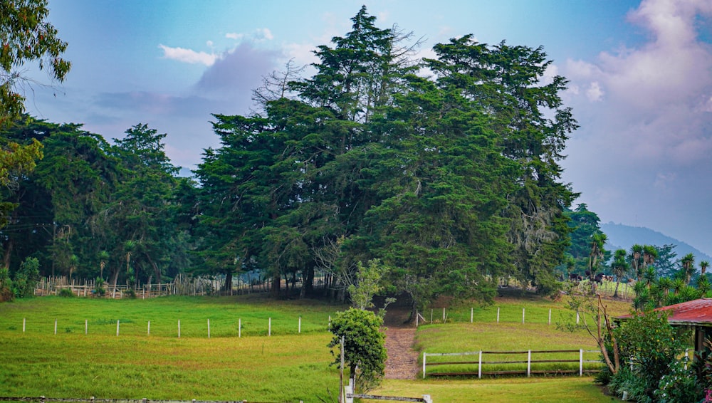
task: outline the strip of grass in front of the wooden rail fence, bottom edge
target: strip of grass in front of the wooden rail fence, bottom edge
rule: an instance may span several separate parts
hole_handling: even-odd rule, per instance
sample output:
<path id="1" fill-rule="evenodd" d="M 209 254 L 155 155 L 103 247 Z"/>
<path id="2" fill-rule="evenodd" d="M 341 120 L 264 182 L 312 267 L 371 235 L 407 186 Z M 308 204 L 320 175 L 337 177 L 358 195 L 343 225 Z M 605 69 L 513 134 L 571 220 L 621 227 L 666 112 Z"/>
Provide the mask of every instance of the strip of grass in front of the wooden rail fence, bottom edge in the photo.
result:
<path id="1" fill-rule="evenodd" d="M 488 380 L 441 380 L 420 382 L 385 380 L 372 394 L 422 397 L 434 402 L 498 403 L 603 403 L 617 401 L 607 396 L 591 377 L 499 378 Z"/>

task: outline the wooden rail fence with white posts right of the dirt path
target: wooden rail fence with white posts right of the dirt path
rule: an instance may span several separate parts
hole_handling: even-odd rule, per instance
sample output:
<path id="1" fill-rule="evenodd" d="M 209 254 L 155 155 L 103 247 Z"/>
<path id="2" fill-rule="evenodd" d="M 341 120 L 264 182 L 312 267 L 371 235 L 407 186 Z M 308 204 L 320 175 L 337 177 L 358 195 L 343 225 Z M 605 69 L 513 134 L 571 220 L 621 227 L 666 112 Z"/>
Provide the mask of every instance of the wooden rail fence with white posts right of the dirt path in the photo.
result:
<path id="1" fill-rule="evenodd" d="M 560 354 L 560 353 L 578 353 L 576 359 L 541 359 L 532 360 L 533 354 Z M 457 376 L 457 375 L 477 375 L 478 378 L 482 378 L 482 375 L 543 375 L 543 374 L 575 374 L 581 376 L 584 373 L 590 372 L 600 372 L 600 367 L 584 369 L 585 363 L 598 363 L 599 360 L 584 360 L 583 355 L 585 352 L 599 352 L 598 350 L 527 350 L 527 351 L 474 351 L 474 352 L 435 352 L 435 353 L 423 353 L 423 379 L 426 375 L 432 376 Z M 527 355 L 526 360 L 495 360 L 495 361 L 483 361 L 484 355 Z M 464 356 L 464 355 L 477 355 L 477 361 L 439 361 L 439 362 L 427 362 L 427 357 L 454 357 L 454 356 Z M 543 363 L 570 363 L 578 362 L 578 370 L 532 370 L 532 364 L 543 364 Z M 483 365 L 511 365 L 511 364 L 526 364 L 526 370 L 491 370 L 483 371 Z M 426 368 L 434 365 L 477 365 L 477 372 L 471 371 L 458 371 L 458 372 L 431 372 L 427 373 Z"/>

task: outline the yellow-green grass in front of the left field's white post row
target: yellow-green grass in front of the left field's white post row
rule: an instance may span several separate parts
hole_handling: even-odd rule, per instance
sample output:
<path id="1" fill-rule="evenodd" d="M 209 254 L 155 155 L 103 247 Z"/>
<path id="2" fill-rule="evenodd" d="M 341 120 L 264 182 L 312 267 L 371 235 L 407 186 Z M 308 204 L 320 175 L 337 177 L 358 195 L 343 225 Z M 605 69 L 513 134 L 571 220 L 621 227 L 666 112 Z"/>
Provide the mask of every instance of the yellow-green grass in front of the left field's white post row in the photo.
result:
<path id="1" fill-rule="evenodd" d="M 273 337 L 0 337 L 0 395 L 310 400 L 338 389 L 327 333 Z"/>

